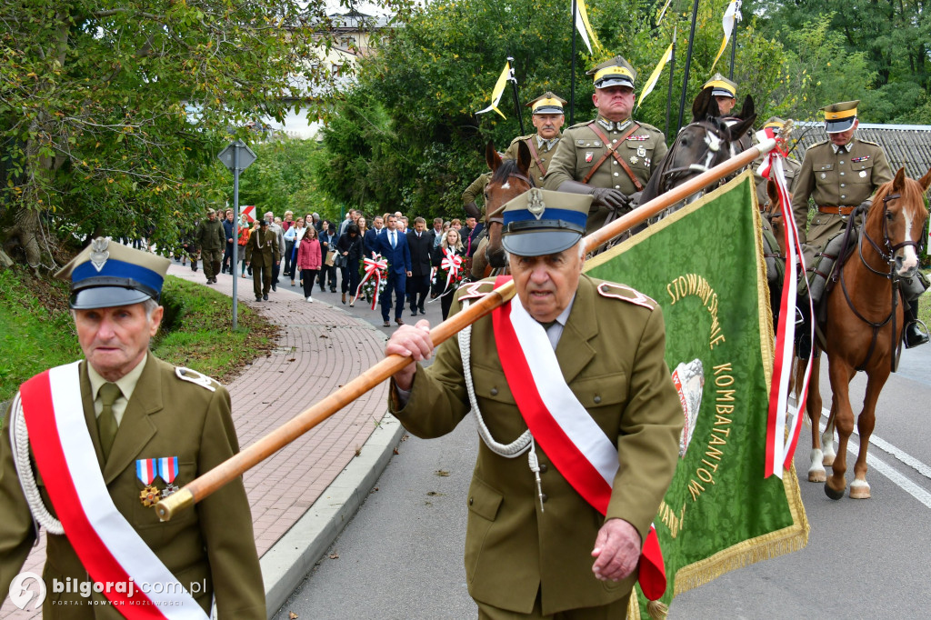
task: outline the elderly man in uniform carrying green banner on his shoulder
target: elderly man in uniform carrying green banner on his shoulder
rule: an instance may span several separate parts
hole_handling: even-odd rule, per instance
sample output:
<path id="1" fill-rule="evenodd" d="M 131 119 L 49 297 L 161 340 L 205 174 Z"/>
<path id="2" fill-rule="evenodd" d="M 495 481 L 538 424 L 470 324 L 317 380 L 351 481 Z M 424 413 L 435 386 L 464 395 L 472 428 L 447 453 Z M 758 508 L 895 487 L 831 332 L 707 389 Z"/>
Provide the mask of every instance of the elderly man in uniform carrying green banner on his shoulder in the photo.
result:
<path id="1" fill-rule="evenodd" d="M 477 415 L 482 441 L 465 507 L 479 618 L 625 617 L 675 470 L 682 412 L 662 312 L 634 290 L 582 275 L 591 202 L 533 188 L 507 203 L 516 295 L 440 344 L 429 368 L 419 363 L 433 351 L 426 320 L 385 346 L 412 357 L 392 379 L 389 408 L 413 435 L 439 437 Z M 462 287 L 453 312 L 492 288 L 491 279 Z M 598 492 L 587 488 L 595 483 Z"/>

